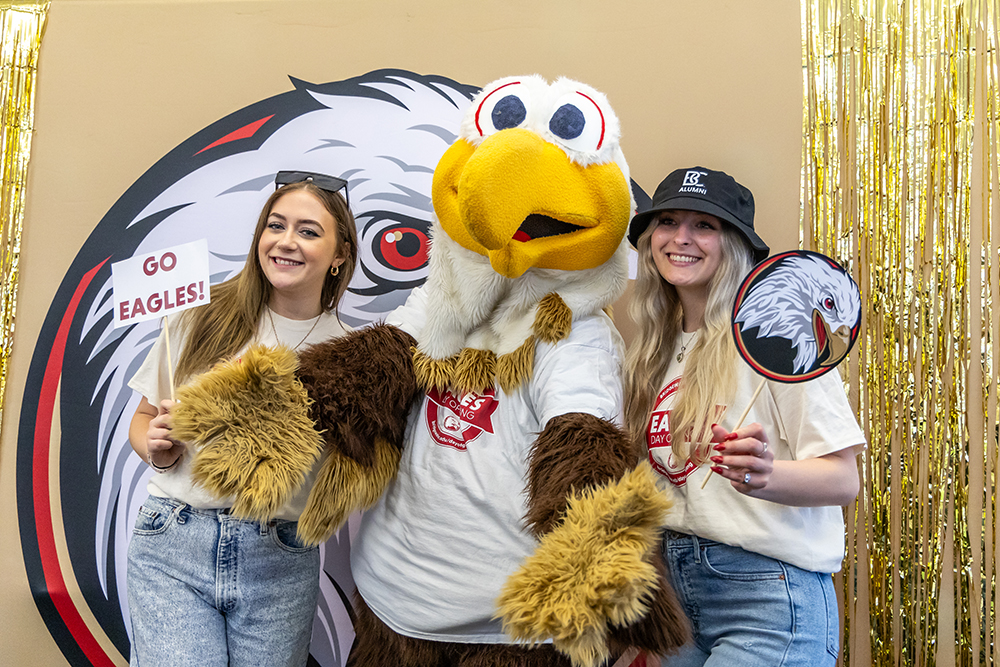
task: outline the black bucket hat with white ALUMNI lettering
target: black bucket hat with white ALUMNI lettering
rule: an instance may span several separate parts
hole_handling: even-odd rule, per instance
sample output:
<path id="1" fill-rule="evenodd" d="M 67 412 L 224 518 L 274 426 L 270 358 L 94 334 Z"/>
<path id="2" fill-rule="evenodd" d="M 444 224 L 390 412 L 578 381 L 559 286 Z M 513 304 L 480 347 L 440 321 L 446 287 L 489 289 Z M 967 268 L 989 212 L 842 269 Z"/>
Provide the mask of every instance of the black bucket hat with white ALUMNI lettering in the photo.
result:
<path id="1" fill-rule="evenodd" d="M 766 259 L 770 253 L 753 230 L 753 193 L 724 171 L 704 167 L 672 171 L 656 188 L 649 210 L 636 213 L 629 223 L 628 241 L 633 248 L 653 216 L 668 209 L 700 211 L 728 222 L 747 240 L 754 262 Z"/>

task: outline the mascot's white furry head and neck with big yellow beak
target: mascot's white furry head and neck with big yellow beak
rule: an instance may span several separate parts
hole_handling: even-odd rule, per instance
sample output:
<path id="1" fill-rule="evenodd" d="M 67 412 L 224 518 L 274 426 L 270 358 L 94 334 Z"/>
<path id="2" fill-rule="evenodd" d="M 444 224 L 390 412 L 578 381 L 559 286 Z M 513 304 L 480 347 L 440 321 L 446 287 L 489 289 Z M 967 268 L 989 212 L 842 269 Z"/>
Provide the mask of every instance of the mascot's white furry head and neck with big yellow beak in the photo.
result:
<path id="1" fill-rule="evenodd" d="M 495 363 L 512 389 L 534 341 L 621 296 L 634 203 L 619 138 L 607 99 L 577 81 L 506 77 L 473 98 L 434 171 L 424 384 L 481 389 L 491 371 L 473 380 L 455 364 Z"/>

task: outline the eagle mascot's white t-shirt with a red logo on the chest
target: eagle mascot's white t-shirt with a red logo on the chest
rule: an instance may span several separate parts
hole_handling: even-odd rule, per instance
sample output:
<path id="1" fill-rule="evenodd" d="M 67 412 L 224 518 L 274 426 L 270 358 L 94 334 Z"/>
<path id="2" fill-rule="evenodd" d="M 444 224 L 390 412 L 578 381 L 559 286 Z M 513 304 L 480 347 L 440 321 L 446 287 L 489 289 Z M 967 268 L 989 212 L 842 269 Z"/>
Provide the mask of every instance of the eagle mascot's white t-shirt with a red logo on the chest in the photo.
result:
<path id="1" fill-rule="evenodd" d="M 416 335 L 415 290 L 388 323 Z M 531 445 L 558 415 L 620 423 L 621 339 L 600 313 L 539 343 L 534 375 L 513 393 L 431 392 L 410 412 L 399 474 L 365 512 L 351 569 L 369 607 L 396 632 L 445 642 L 513 643 L 493 618 L 507 578 L 534 552 L 525 530 Z"/>

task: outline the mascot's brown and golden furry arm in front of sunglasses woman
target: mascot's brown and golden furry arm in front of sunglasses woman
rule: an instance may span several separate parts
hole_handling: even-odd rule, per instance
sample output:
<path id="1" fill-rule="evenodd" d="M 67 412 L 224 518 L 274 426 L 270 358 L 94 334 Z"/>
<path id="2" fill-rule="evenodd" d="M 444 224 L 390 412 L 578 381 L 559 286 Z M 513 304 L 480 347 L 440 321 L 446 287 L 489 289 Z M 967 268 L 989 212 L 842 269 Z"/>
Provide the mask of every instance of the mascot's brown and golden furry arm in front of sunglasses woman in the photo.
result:
<path id="1" fill-rule="evenodd" d="M 370 507 L 399 467 L 418 389 L 411 336 L 385 325 L 296 355 L 253 346 L 178 391 L 174 435 L 196 443 L 192 474 L 233 513 L 269 521 L 320 457 L 298 535 L 326 541 Z"/>

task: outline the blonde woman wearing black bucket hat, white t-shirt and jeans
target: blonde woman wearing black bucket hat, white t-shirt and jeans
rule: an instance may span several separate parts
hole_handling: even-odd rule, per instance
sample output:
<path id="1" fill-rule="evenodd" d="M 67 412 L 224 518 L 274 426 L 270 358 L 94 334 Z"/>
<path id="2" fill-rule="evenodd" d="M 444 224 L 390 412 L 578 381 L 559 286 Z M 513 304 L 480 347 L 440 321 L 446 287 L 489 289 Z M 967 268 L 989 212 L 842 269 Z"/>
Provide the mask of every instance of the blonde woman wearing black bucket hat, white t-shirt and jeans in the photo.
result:
<path id="1" fill-rule="evenodd" d="M 629 226 L 639 262 L 625 418 L 673 490 L 663 557 L 694 629 L 670 667 L 833 665 L 839 650 L 831 573 L 864 434 L 835 373 L 768 383 L 730 432 L 759 380 L 730 331 L 736 292 L 768 255 L 753 219 L 747 188 L 692 167 Z M 702 462 L 704 487 L 691 477 Z"/>

